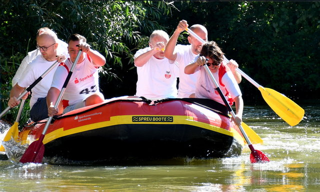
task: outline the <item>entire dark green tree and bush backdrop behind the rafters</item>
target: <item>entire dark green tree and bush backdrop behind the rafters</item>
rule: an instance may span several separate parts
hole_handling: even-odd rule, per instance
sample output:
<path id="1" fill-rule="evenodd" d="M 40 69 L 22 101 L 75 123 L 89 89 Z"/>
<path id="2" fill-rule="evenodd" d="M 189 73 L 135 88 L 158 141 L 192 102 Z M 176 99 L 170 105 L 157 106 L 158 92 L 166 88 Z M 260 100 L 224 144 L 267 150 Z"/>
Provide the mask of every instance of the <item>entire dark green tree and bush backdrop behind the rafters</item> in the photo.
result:
<path id="1" fill-rule="evenodd" d="M 0 111 L 19 63 L 35 49 L 38 28 L 49 27 L 64 41 L 72 33 L 85 36 L 107 59 L 100 88 L 111 98 L 135 94 L 134 53 L 147 46 L 154 29 L 171 35 L 181 19 L 203 24 L 208 39 L 260 85 L 299 105 L 318 105 L 319 12 L 317 1 L 0 0 Z M 179 43 L 187 44 L 186 36 Z M 245 105 L 265 105 L 244 78 L 240 88 Z M 4 119 L 13 122 L 16 112 Z"/>

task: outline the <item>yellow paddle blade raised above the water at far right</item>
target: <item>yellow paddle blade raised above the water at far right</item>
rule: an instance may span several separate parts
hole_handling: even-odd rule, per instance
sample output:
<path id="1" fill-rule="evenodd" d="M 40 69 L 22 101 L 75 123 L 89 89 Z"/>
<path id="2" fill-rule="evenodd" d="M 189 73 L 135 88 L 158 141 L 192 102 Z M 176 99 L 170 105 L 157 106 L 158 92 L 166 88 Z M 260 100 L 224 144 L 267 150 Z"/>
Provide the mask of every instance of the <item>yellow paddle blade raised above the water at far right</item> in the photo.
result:
<path id="1" fill-rule="evenodd" d="M 258 88 L 264 101 L 271 109 L 290 126 L 297 125 L 303 118 L 304 110 L 291 99 L 273 89 Z"/>

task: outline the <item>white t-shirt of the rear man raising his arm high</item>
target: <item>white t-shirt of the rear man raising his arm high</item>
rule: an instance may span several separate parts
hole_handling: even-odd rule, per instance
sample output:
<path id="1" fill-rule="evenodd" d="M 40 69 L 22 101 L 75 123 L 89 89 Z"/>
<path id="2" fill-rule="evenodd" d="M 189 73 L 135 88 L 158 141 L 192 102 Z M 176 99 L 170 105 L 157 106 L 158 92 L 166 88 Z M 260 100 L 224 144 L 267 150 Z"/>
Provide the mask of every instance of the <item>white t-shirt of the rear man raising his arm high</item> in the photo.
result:
<path id="1" fill-rule="evenodd" d="M 191 45 L 176 45 L 176 59 L 179 64 L 179 86 L 178 86 L 178 98 L 189 97 L 190 94 L 195 92 L 195 82 L 198 76 L 198 72 L 193 74 L 185 74 L 184 67 L 188 65 L 197 54 L 194 54 L 191 50 Z"/>

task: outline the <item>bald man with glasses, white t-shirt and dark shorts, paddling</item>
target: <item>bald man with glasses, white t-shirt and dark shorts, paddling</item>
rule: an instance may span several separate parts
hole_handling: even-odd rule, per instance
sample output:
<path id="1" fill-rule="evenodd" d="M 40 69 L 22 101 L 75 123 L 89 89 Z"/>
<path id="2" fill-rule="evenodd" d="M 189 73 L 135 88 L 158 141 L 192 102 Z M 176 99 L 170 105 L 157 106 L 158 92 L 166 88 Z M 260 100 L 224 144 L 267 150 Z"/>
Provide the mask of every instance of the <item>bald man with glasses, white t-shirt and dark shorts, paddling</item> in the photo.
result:
<path id="1" fill-rule="evenodd" d="M 8 106 L 11 108 L 18 105 L 20 101 L 16 98 L 40 77 L 55 61 L 62 62 L 65 55 L 57 52 L 58 38 L 56 34 L 46 29 L 36 37 L 36 48 L 40 52 L 32 61 L 30 61 L 17 83 L 10 91 Z M 30 118 L 36 122 L 47 118 L 48 111 L 46 106 L 46 95 L 51 86 L 52 78 L 57 66 L 47 73 L 40 82 L 31 89 L 30 98 Z"/>

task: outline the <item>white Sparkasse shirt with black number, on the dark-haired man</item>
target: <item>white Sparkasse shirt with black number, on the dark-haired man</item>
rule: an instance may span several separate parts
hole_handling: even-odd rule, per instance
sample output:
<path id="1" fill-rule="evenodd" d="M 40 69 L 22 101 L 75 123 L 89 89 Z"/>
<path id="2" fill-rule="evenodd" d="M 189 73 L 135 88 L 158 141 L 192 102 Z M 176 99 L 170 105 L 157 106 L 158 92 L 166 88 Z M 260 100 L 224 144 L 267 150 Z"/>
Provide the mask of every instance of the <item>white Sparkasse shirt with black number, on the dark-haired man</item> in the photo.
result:
<path id="1" fill-rule="evenodd" d="M 99 93 L 98 67 L 93 65 L 89 55 L 86 53 L 84 53 L 84 55 L 83 61 L 75 65 L 71 78 L 62 95 L 62 99 L 67 100 L 68 105 L 73 105 L 86 99 L 90 95 Z M 63 64 L 65 64 L 68 69 L 66 69 Z M 62 89 L 71 66 L 72 61 L 70 58 L 60 63 L 54 73 L 51 87 L 55 87 L 58 90 Z"/>

